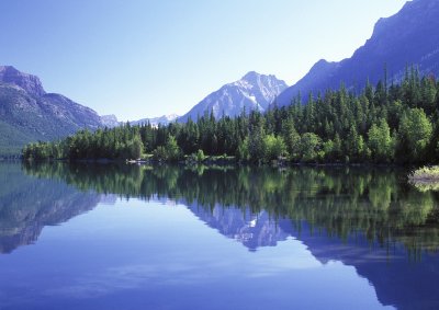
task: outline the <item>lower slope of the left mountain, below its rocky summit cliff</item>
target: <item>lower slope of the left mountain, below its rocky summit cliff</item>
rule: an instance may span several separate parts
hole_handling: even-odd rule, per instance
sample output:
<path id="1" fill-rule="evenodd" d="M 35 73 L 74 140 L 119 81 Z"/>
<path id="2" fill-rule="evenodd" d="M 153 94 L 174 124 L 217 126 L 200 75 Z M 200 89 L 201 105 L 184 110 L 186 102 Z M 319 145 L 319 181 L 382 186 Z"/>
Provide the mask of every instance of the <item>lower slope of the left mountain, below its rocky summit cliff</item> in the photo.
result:
<path id="1" fill-rule="evenodd" d="M 71 103 L 71 102 L 70 102 Z M 53 141 L 80 127 L 99 125 L 98 116 L 68 103 L 60 95 L 35 97 L 12 85 L 0 88 L 0 157 L 20 156 L 36 141 Z M 60 117 L 60 115 L 67 115 Z"/>

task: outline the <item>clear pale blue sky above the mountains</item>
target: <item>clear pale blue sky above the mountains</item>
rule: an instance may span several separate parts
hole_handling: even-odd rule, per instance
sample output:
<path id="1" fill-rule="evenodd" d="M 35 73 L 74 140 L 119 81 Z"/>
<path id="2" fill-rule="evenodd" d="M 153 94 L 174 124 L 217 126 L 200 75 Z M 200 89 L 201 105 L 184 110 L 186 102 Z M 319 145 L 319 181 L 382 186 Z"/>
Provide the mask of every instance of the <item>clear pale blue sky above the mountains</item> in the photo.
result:
<path id="1" fill-rule="evenodd" d="M 99 114 L 184 114 L 246 72 L 293 84 L 406 0 L 1 0 L 0 65 Z"/>

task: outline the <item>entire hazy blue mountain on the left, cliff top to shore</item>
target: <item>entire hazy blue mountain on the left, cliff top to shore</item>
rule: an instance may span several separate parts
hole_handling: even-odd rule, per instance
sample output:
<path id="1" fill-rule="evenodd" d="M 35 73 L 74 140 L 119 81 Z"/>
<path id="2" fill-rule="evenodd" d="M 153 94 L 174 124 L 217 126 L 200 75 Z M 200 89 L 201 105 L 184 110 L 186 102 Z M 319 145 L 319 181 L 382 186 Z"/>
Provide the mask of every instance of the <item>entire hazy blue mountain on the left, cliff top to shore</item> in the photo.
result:
<path id="1" fill-rule="evenodd" d="M 40 79 L 0 66 L 0 156 L 16 154 L 27 142 L 53 140 L 83 128 L 102 126 L 91 108 L 55 93 Z"/>

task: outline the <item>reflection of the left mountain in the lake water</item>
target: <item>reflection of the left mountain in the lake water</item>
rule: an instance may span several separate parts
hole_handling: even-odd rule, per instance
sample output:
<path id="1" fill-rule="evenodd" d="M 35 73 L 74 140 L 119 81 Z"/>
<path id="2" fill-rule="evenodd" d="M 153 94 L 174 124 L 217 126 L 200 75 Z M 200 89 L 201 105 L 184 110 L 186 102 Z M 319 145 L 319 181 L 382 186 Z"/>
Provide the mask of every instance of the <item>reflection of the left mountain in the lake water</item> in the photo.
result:
<path id="1" fill-rule="evenodd" d="M 35 242 L 45 226 L 67 221 L 101 199 L 59 180 L 29 177 L 18 164 L 0 163 L 0 253 Z"/>

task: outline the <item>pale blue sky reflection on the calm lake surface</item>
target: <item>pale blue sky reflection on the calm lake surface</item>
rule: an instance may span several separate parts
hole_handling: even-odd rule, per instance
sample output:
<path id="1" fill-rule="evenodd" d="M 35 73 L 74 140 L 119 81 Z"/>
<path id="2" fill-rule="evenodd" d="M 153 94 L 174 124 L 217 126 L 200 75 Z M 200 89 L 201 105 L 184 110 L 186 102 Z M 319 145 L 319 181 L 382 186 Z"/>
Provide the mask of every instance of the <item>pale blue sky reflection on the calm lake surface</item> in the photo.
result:
<path id="1" fill-rule="evenodd" d="M 250 252 L 184 206 L 117 200 L 0 255 L 0 309 L 380 309 L 299 240 Z"/>

